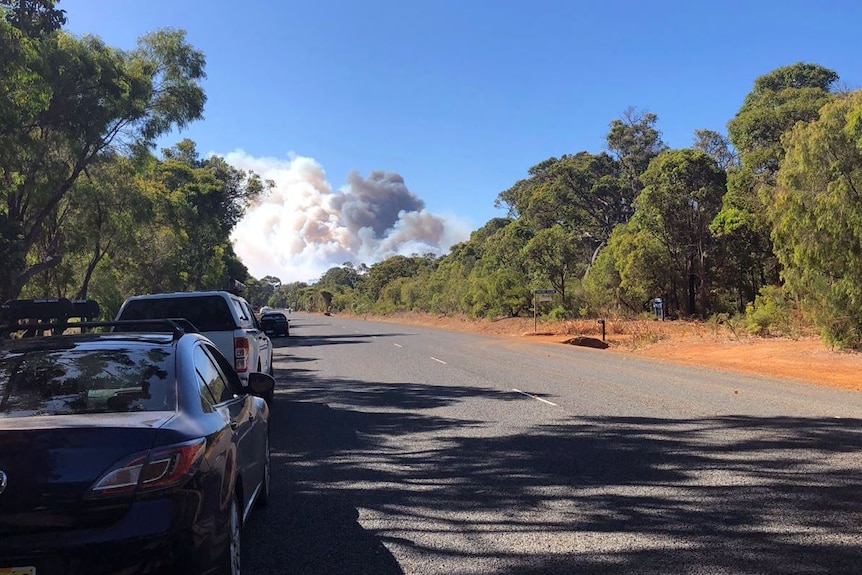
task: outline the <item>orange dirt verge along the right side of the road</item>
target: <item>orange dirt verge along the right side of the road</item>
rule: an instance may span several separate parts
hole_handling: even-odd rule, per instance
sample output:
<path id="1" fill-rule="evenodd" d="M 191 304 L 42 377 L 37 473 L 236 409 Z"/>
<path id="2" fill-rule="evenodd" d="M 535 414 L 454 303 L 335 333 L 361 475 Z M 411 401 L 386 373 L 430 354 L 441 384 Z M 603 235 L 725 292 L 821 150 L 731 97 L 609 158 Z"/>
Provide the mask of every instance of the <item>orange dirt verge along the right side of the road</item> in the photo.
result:
<path id="1" fill-rule="evenodd" d="M 397 313 L 367 316 L 369 320 L 471 331 L 523 341 L 567 345 L 600 345 L 601 325 L 595 320 L 534 323 L 531 318 L 494 321 L 467 317 Z M 606 349 L 620 353 L 712 367 L 812 385 L 862 391 L 862 354 L 829 349 L 817 337 L 798 339 L 752 337 L 718 325 L 689 321 L 607 320 Z"/>

